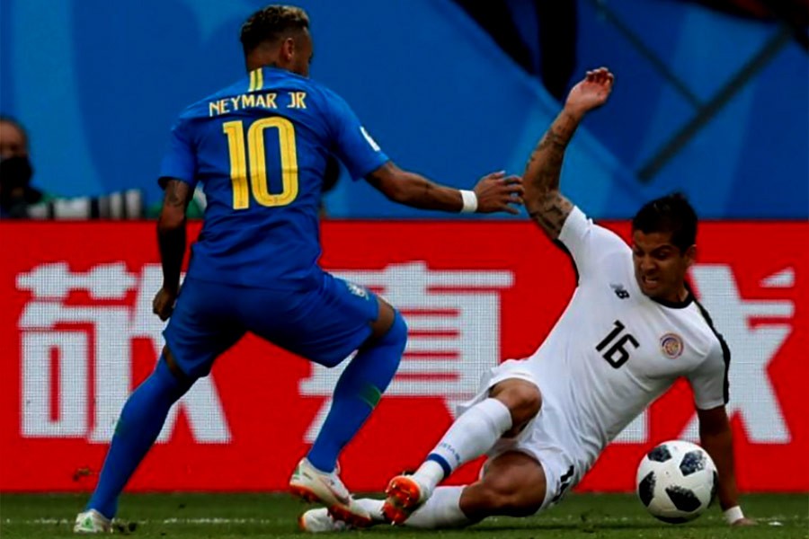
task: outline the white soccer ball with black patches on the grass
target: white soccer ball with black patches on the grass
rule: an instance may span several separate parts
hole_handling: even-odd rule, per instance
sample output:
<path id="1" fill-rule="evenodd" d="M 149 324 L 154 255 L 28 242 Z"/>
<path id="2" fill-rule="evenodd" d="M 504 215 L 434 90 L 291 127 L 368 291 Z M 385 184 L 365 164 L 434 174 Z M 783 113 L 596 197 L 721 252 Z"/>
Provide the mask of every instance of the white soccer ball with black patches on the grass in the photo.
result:
<path id="1" fill-rule="evenodd" d="M 716 495 L 716 465 L 700 446 L 671 440 L 637 466 L 637 497 L 653 517 L 680 524 L 699 517 Z"/>

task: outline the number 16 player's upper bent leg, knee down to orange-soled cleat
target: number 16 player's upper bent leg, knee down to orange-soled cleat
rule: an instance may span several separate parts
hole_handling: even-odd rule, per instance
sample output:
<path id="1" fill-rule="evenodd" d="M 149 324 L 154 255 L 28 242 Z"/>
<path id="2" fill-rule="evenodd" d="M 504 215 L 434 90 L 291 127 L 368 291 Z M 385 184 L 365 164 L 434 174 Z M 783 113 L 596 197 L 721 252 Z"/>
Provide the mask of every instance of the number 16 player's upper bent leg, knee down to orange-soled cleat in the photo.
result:
<path id="1" fill-rule="evenodd" d="M 458 466 L 485 454 L 500 437 L 520 434 L 541 406 L 538 387 L 527 380 L 510 378 L 494 385 L 489 398 L 455 420 L 416 473 L 397 475 L 388 483 L 385 516 L 404 523 Z"/>

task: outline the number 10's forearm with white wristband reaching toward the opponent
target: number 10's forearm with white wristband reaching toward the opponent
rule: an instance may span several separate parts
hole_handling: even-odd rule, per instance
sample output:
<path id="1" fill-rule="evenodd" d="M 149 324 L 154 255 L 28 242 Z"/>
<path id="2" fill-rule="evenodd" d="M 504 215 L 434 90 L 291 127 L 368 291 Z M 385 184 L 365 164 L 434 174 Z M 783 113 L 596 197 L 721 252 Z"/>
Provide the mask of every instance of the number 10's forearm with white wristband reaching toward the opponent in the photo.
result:
<path id="1" fill-rule="evenodd" d="M 505 172 L 493 172 L 477 182 L 474 191 L 457 190 L 403 171 L 393 162 L 380 166 L 366 180 L 387 197 L 405 206 L 467 213 L 505 211 L 516 215 L 522 203 L 522 181 Z"/>

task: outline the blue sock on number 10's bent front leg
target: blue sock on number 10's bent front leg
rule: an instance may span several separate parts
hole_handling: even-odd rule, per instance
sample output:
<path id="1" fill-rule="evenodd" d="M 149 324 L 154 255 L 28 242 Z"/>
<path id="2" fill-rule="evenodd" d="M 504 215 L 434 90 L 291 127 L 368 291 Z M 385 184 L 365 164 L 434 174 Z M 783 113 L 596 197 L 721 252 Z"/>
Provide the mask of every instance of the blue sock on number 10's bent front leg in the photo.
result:
<path id="1" fill-rule="evenodd" d="M 360 349 L 334 388 L 332 409 L 307 458 L 318 470 L 332 472 L 337 455 L 368 419 L 393 380 L 407 343 L 407 325 L 396 311 L 390 330 Z"/>

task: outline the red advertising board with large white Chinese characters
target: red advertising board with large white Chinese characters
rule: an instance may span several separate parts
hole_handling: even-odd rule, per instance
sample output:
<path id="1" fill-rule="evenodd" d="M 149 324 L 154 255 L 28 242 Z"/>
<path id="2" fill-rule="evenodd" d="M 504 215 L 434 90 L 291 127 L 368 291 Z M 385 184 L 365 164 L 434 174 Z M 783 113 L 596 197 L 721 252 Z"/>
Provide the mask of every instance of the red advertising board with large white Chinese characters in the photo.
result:
<path id="1" fill-rule="evenodd" d="M 627 224 L 610 225 L 627 234 Z M 197 229 L 192 230 L 191 236 Z M 0 224 L 0 490 L 92 489 L 115 420 L 154 366 L 163 324 L 152 223 Z M 419 464 L 486 369 L 526 357 L 574 287 L 563 252 L 528 223 L 327 222 L 323 265 L 405 314 L 399 373 L 342 456 L 353 490 Z M 691 281 L 731 349 L 742 490 L 809 490 L 804 464 L 809 225 L 706 223 Z M 247 337 L 173 409 L 130 490 L 283 490 L 338 369 Z M 580 490 L 631 490 L 656 442 L 694 437 L 677 384 L 605 451 Z M 468 482 L 467 466 L 453 482 Z"/>

